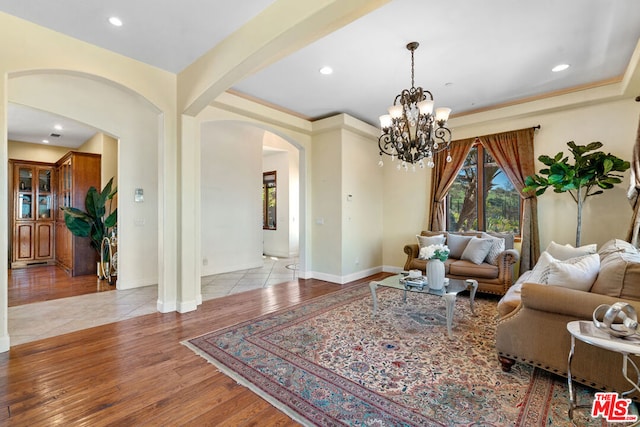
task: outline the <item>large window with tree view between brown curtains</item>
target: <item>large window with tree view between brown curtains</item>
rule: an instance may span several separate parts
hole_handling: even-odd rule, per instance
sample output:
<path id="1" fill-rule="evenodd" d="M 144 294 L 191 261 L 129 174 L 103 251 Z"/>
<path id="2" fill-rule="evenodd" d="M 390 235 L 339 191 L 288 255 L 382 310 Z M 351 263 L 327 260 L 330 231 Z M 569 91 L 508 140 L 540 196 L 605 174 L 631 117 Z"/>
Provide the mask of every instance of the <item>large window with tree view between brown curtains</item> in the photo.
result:
<path id="1" fill-rule="evenodd" d="M 520 195 L 481 144 L 469 152 L 446 203 L 449 231 L 520 234 Z"/>

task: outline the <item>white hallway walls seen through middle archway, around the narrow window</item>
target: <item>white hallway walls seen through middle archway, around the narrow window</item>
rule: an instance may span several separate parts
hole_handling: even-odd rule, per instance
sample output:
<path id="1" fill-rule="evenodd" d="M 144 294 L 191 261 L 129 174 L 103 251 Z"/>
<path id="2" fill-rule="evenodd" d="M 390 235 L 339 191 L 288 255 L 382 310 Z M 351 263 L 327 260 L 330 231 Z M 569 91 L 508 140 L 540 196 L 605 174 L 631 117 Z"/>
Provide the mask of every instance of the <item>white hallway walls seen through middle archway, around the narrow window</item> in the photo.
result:
<path id="1" fill-rule="evenodd" d="M 291 137 L 255 123 L 203 122 L 201 141 L 202 275 L 254 268 L 265 253 L 261 185 L 265 150 L 277 151 L 282 198 L 279 233 L 268 251 L 305 265 L 305 149 Z M 277 166 L 275 166 L 277 165 Z M 273 234 L 275 234 L 273 233 Z"/>

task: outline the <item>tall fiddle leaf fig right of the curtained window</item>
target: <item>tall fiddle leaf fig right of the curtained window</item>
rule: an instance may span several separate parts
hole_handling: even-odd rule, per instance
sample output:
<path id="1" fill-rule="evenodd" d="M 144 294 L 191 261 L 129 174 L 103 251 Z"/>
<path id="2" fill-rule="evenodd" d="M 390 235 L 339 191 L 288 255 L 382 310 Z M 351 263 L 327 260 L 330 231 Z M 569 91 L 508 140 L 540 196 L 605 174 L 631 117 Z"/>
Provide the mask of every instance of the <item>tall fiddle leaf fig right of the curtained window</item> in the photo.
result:
<path id="1" fill-rule="evenodd" d="M 540 169 L 539 174 L 525 178 L 524 191 L 535 191 L 539 196 L 552 187 L 555 193 L 569 193 L 578 205 L 576 246 L 580 246 L 582 207 L 587 197 L 602 194 L 604 190 L 621 183 L 622 175 L 619 172 L 626 171 L 630 165 L 611 153 L 595 151 L 602 147 L 601 142 L 576 145 L 569 141 L 567 145 L 573 156 L 573 164 L 569 163 L 569 157 L 564 156 L 562 151 L 553 157 L 538 157 L 546 167 Z"/>

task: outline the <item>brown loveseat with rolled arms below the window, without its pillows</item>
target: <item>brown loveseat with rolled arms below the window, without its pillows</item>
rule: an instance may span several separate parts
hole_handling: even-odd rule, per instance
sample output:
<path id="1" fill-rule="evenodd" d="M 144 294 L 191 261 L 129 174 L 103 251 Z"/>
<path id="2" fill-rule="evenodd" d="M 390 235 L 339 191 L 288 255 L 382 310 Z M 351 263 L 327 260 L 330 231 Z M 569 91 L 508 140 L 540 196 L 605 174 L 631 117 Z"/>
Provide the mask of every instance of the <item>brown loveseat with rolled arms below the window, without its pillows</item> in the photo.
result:
<path id="1" fill-rule="evenodd" d="M 449 244 L 449 235 L 453 235 L 453 237 L 481 237 L 483 233 L 449 233 L 446 231 L 422 231 L 420 233 L 421 236 L 426 237 L 441 234 L 444 234 L 445 238 L 448 239 L 445 241 L 445 244 L 453 248 L 453 245 Z M 507 289 L 513 284 L 513 265 L 520 259 L 520 255 L 518 251 L 513 249 L 513 234 L 488 234 L 492 237 L 505 240 L 505 249 L 497 256 L 494 264 L 488 262 L 476 264 L 468 260 L 463 260 L 460 259 L 459 251 L 456 253 L 452 250 L 449 259 L 445 261 L 445 275 L 452 279 L 475 279 L 478 281 L 479 292 L 504 295 Z M 407 260 L 404 264 L 405 270 L 415 269 L 425 272 L 427 261 L 419 259 L 420 247 L 418 243 L 405 245 L 404 252 L 407 254 Z"/>

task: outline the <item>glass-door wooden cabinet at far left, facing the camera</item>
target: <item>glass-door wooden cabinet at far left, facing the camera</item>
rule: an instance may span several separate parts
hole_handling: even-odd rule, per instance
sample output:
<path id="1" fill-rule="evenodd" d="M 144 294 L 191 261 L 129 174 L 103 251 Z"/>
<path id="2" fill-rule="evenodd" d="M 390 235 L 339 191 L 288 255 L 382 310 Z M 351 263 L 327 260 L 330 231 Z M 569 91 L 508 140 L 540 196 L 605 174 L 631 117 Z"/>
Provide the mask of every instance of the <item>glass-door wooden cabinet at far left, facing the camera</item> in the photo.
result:
<path id="1" fill-rule="evenodd" d="M 11 268 L 54 263 L 55 166 L 10 161 Z"/>

